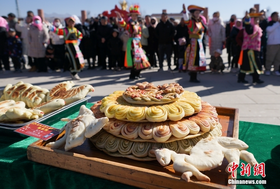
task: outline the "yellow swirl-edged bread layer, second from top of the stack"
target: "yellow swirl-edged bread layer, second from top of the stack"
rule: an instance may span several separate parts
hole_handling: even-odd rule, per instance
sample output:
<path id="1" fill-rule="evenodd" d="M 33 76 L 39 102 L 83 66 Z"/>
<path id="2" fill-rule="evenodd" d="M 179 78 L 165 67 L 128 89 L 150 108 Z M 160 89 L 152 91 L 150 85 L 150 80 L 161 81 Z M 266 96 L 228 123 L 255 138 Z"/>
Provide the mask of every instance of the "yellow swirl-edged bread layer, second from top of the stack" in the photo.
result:
<path id="1" fill-rule="evenodd" d="M 106 117 L 132 122 L 179 121 L 183 117 L 201 111 L 202 108 L 201 98 L 189 91 L 184 91 L 176 101 L 159 105 L 130 104 L 123 98 L 124 92 L 116 91 L 102 99 L 100 111 Z"/>

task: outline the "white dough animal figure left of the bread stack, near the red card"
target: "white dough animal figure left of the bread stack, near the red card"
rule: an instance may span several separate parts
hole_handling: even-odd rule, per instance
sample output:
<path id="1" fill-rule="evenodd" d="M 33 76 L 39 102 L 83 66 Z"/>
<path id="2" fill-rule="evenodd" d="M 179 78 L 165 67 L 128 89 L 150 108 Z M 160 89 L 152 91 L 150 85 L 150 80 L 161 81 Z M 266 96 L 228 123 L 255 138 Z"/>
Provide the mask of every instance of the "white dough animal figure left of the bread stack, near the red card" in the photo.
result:
<path id="1" fill-rule="evenodd" d="M 55 142 L 46 144 L 46 147 L 55 149 L 65 144 L 65 151 L 67 151 L 82 145 L 86 138 L 98 133 L 109 119 L 107 117 L 96 119 L 92 111 L 82 105 L 76 118 L 73 120 L 63 118 L 61 121 L 68 121 L 59 133 L 61 134 L 65 130 L 64 136 Z"/>

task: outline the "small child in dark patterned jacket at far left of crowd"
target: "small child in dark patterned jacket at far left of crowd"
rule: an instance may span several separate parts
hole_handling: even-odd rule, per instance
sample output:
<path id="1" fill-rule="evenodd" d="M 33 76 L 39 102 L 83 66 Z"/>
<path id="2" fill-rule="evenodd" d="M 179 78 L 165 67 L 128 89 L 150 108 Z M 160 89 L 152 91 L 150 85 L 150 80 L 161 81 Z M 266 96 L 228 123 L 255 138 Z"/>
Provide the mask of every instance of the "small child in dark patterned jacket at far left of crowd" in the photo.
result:
<path id="1" fill-rule="evenodd" d="M 9 29 L 8 38 L 7 38 L 6 53 L 11 57 L 12 62 L 14 63 L 14 72 L 21 71 L 21 62 L 20 57 L 22 55 L 22 46 L 21 40 L 16 35 L 16 30 L 13 28 Z"/>

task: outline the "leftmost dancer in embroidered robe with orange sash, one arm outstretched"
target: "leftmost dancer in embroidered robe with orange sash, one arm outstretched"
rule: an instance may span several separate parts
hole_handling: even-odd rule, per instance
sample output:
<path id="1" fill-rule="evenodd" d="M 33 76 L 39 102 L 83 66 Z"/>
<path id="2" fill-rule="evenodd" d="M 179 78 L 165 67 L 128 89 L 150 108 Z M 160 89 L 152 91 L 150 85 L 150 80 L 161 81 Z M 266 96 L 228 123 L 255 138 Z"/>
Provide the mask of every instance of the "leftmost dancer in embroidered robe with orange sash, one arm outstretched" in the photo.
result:
<path id="1" fill-rule="evenodd" d="M 78 72 L 85 66 L 85 61 L 79 44 L 82 40 L 82 33 L 75 26 L 75 18 L 66 19 L 67 27 L 59 29 L 53 25 L 49 25 L 50 31 L 58 35 L 63 35 L 66 45 L 65 66 L 69 67 L 73 80 L 79 80 Z M 66 68 L 67 69 L 67 68 Z"/>

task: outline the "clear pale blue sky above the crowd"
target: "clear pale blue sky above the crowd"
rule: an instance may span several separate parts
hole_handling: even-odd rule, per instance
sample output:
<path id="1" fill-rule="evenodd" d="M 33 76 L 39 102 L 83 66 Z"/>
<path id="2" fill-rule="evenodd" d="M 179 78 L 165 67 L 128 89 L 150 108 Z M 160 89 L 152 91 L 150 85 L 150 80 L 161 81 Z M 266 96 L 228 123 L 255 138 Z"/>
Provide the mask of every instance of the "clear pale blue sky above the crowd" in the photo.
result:
<path id="1" fill-rule="evenodd" d="M 111 10 L 119 0 L 18 0 L 21 16 L 26 15 L 26 11 L 31 10 L 37 14 L 37 9 L 43 9 L 45 13 L 58 14 L 76 14 L 80 16 L 81 10 L 90 11 L 91 16 L 96 16 L 105 10 Z M 200 1 L 183 1 L 183 0 L 127 0 L 129 5 L 137 3 L 140 5 L 142 14 L 161 13 L 162 9 L 167 9 L 167 13 L 178 13 L 182 11 L 182 4 L 186 6 L 194 4 L 208 7 L 209 15 L 219 11 L 224 20 L 229 20 L 231 14 L 236 14 L 238 18 L 244 16 L 244 13 L 254 4 L 260 4 L 260 10 L 269 8 L 269 12 L 280 11 L 279 0 L 200 0 Z M 0 15 L 7 15 L 10 12 L 16 14 L 15 0 L 0 0 Z M 120 6 L 119 6 L 120 7 Z"/>

